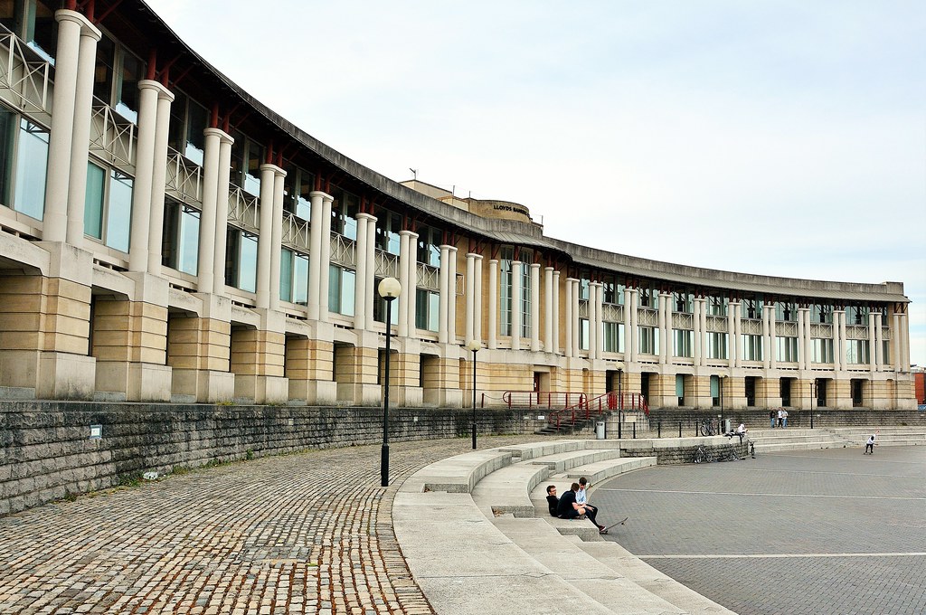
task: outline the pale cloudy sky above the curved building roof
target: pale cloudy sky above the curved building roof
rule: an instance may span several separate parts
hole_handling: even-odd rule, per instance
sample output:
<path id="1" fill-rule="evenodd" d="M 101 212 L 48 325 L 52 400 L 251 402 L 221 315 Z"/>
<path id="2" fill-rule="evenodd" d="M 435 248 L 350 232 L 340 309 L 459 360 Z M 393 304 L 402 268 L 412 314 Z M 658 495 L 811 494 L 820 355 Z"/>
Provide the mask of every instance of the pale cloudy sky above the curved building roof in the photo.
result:
<path id="1" fill-rule="evenodd" d="M 148 0 L 206 60 L 397 181 L 549 236 L 905 283 L 926 365 L 920 0 Z"/>

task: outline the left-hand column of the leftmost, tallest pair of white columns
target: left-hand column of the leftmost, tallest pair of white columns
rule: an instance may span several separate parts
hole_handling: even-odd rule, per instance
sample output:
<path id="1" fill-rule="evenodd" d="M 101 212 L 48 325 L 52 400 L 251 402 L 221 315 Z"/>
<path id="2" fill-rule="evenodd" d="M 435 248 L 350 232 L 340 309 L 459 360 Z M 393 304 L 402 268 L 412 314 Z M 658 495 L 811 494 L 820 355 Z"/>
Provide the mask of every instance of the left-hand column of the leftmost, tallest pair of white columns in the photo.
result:
<path id="1" fill-rule="evenodd" d="M 92 24 L 80 13 L 60 9 L 55 54 L 55 90 L 52 94 L 51 131 L 45 173 L 45 209 L 42 238 L 63 242 L 68 238 L 68 189 L 71 147 L 74 143 L 74 110 L 81 56 L 81 30 Z M 86 173 L 87 169 L 83 169 Z M 81 225 L 83 220 L 81 220 Z"/>

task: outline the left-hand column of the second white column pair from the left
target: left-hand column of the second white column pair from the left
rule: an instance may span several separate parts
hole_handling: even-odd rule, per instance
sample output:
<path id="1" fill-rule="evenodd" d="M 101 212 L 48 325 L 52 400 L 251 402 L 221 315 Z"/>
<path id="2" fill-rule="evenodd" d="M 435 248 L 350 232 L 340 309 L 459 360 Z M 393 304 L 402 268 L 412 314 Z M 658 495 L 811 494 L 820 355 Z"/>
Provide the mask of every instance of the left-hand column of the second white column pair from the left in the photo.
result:
<path id="1" fill-rule="evenodd" d="M 131 242 L 129 270 L 148 269 L 148 229 L 151 223 L 151 174 L 155 170 L 157 91 L 160 83 L 138 82 L 138 143 L 135 146 L 135 182 L 131 191 Z M 216 150 L 218 153 L 218 150 Z M 86 169 L 84 169 L 86 173 Z"/>

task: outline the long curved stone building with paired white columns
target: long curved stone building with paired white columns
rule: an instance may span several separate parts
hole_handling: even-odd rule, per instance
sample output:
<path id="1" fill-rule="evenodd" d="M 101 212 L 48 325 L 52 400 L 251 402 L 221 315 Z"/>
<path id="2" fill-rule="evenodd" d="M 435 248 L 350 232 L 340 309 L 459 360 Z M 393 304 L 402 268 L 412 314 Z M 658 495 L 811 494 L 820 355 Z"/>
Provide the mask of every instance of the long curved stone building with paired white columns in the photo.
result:
<path id="1" fill-rule="evenodd" d="M 673 265 L 319 143 L 144 2 L 0 9 L 0 395 L 913 408 L 903 284 Z M 393 352 L 384 352 L 385 277 Z"/>

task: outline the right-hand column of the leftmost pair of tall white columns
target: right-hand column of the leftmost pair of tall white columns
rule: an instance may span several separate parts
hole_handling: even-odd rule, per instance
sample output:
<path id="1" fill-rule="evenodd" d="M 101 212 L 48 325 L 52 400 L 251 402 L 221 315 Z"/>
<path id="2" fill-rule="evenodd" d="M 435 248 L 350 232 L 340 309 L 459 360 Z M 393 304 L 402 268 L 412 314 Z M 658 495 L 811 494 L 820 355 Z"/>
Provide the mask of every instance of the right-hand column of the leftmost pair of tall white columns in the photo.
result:
<path id="1" fill-rule="evenodd" d="M 87 158 L 90 151 L 90 119 L 94 112 L 94 69 L 100 31 L 89 23 L 81 27 L 74 100 L 73 141 L 70 146 L 68 184 L 68 243 L 83 245 L 83 209 L 87 190 Z M 160 245 L 158 245 L 160 248 Z M 160 256 L 160 254 L 158 254 Z"/>

